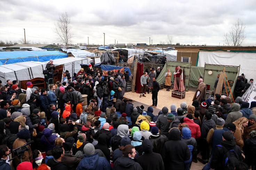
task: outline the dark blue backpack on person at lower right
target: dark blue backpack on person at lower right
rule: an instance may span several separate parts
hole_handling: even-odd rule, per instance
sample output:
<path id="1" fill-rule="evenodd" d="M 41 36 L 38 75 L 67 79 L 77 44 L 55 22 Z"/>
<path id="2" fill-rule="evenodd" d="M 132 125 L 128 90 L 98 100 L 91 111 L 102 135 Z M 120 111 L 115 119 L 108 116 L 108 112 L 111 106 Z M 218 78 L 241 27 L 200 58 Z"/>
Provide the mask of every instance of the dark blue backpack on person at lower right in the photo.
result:
<path id="1" fill-rule="evenodd" d="M 238 154 L 234 150 L 227 150 L 224 146 L 222 145 L 217 145 L 219 147 L 222 147 L 224 150 L 224 159 L 223 163 L 225 165 L 226 170 L 234 170 L 235 165 L 239 162 L 239 157 Z"/>

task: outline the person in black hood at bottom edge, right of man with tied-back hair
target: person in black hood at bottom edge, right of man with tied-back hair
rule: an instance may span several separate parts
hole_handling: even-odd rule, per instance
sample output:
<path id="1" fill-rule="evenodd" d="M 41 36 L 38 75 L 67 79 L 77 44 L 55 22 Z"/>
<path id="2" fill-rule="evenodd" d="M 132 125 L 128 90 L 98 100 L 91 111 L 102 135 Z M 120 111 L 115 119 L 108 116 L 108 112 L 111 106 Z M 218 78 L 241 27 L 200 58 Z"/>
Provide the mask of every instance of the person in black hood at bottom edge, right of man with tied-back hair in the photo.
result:
<path id="1" fill-rule="evenodd" d="M 146 170 L 162 170 L 164 169 L 163 159 L 160 154 L 153 152 L 153 145 L 149 139 L 142 142 L 143 155 L 139 156 L 137 162 Z"/>

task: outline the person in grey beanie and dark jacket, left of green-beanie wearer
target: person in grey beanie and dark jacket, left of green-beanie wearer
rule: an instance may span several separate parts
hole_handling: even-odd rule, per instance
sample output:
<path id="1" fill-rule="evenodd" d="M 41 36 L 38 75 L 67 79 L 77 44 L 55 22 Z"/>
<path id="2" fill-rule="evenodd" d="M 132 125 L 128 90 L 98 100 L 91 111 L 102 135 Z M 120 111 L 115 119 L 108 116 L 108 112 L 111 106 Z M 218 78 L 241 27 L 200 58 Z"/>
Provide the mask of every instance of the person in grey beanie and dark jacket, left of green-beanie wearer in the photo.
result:
<path id="1" fill-rule="evenodd" d="M 161 135 L 168 135 L 170 122 L 167 120 L 168 108 L 162 108 L 163 114 L 160 114 L 157 119 L 156 126 L 160 129 Z"/>

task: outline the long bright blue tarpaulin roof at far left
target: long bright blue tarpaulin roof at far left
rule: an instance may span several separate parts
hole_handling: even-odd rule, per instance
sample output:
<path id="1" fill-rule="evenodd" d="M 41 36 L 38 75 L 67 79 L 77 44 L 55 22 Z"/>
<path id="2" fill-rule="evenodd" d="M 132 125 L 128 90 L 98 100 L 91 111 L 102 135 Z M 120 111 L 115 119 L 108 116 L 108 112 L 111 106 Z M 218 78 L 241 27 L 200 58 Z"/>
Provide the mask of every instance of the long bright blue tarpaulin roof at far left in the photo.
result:
<path id="1" fill-rule="evenodd" d="M 66 58 L 67 54 L 59 51 L 4 51 L 0 52 L 0 65 L 25 61 L 49 61 Z"/>

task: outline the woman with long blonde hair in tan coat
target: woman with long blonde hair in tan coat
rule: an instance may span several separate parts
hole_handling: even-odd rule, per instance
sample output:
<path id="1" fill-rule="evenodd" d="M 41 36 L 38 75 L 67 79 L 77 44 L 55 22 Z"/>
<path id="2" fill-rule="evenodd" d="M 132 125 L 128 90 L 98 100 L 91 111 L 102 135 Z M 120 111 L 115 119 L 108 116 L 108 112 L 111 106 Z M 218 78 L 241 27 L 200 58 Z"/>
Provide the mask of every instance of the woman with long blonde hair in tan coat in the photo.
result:
<path id="1" fill-rule="evenodd" d="M 241 148 L 243 148 L 243 129 L 248 125 L 248 119 L 246 117 L 241 117 L 233 122 L 235 124 L 235 143 Z"/>

